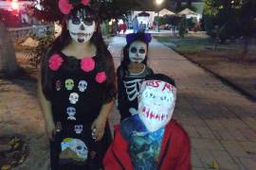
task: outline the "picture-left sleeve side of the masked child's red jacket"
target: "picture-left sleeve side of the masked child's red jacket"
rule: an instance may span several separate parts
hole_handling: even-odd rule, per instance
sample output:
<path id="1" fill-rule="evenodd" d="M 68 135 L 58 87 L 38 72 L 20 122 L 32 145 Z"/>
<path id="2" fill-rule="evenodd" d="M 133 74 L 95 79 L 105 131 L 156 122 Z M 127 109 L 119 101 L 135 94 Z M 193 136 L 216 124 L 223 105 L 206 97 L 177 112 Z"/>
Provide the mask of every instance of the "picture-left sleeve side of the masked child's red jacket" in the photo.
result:
<path id="1" fill-rule="evenodd" d="M 133 169 L 128 152 L 128 144 L 122 138 L 119 127 L 115 127 L 114 141 L 107 149 L 103 159 L 103 166 L 105 170 Z"/>

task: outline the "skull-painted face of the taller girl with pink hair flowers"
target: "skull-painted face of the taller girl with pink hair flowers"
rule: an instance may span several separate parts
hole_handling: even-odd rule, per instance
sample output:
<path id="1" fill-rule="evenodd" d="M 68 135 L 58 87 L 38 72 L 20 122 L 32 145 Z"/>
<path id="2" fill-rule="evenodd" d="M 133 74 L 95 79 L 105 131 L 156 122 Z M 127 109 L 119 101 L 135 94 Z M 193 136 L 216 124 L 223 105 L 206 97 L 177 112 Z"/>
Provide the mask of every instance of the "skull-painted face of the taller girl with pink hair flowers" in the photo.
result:
<path id="1" fill-rule="evenodd" d="M 84 15 L 84 11 L 78 11 L 76 16 L 71 16 L 67 21 L 67 29 L 72 40 L 76 42 L 88 42 L 96 30 L 95 21 Z"/>

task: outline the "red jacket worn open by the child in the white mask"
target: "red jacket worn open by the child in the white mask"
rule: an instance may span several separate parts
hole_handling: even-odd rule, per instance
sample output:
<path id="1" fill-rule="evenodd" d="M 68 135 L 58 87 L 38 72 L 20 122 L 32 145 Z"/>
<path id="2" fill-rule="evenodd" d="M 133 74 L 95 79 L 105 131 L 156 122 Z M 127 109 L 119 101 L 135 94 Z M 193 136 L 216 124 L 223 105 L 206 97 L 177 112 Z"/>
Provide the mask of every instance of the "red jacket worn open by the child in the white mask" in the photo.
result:
<path id="1" fill-rule="evenodd" d="M 133 164 L 128 144 L 115 126 L 115 137 L 103 159 L 105 170 L 132 170 Z M 165 127 L 161 150 L 157 161 L 159 170 L 191 170 L 191 144 L 187 132 L 176 121 L 171 120 Z"/>

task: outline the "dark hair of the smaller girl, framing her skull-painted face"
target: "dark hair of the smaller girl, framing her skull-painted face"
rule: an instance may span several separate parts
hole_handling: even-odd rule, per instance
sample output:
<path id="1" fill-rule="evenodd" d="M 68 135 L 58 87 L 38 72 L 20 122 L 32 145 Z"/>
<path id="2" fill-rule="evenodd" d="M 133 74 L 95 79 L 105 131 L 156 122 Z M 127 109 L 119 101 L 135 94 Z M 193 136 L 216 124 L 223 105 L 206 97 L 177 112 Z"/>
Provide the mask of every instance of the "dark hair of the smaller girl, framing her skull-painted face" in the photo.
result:
<path id="1" fill-rule="evenodd" d="M 128 42 L 124 47 L 123 47 L 123 59 L 121 60 L 120 63 L 120 67 L 123 68 L 123 70 L 127 70 L 128 69 L 128 64 L 131 62 L 131 60 L 129 59 L 129 48 L 130 45 L 133 42 L 144 42 L 147 45 L 147 51 L 149 50 L 149 43 L 147 42 L 147 40 L 145 39 L 145 34 L 143 32 L 138 32 L 135 35 L 135 38 L 133 39 L 132 42 Z M 144 63 L 145 65 L 147 65 L 147 59 L 148 59 L 148 53 L 146 54 L 145 59 L 142 61 L 142 63 Z"/>

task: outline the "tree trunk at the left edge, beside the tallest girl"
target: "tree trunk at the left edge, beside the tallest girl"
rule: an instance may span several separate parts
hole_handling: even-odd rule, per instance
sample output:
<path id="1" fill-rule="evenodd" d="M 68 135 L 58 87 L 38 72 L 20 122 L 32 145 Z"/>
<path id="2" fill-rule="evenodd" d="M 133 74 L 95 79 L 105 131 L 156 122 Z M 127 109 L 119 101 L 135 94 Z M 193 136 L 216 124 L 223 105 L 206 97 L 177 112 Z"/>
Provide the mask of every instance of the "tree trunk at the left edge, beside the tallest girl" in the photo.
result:
<path id="1" fill-rule="evenodd" d="M 0 74 L 12 76 L 18 70 L 13 44 L 6 26 L 0 22 Z"/>

